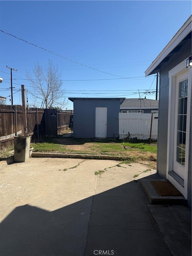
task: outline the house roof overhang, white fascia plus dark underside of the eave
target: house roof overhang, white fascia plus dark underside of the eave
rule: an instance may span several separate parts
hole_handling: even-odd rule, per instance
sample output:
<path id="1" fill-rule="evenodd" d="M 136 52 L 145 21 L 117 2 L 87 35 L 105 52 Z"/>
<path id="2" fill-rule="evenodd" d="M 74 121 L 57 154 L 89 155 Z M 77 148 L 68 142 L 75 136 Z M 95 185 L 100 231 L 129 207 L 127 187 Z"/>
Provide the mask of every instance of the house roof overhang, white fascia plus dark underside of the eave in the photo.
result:
<path id="1" fill-rule="evenodd" d="M 184 44 L 191 40 L 191 19 L 192 15 L 174 35 L 174 37 L 161 51 L 157 58 L 152 62 L 149 68 L 145 71 L 146 77 L 158 73 L 160 71 L 161 65 L 165 62 L 168 62 L 170 57 L 178 53 Z"/>

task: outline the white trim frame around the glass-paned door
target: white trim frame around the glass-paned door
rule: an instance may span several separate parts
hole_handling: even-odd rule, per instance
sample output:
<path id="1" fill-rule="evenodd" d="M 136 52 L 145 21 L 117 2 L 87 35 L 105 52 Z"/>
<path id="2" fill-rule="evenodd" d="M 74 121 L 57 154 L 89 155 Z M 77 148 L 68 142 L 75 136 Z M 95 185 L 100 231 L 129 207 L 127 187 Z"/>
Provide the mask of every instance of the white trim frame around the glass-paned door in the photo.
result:
<path id="1" fill-rule="evenodd" d="M 168 108 L 168 131 L 167 131 L 167 179 L 187 198 L 187 181 L 188 181 L 188 156 L 189 156 L 189 143 L 186 148 L 186 164 L 184 170 L 184 187 L 179 184 L 168 172 L 173 171 L 173 149 L 174 149 L 174 127 L 175 127 L 175 101 L 176 101 L 176 77 L 187 71 L 186 60 L 179 63 L 176 67 L 169 71 L 169 108 Z M 188 101 L 187 109 L 190 109 L 191 102 L 191 68 L 188 68 Z M 190 115 L 187 116 L 187 123 L 190 122 Z M 186 141 L 189 141 L 189 125 L 186 129 Z"/>

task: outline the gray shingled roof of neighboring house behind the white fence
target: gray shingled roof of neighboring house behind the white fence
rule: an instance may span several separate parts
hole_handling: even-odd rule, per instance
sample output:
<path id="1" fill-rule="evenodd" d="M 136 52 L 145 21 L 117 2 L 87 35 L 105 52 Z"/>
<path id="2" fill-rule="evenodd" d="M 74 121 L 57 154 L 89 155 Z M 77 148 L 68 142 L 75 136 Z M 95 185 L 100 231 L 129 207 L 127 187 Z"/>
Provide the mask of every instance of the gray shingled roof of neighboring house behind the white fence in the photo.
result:
<path id="1" fill-rule="evenodd" d="M 121 108 L 138 108 L 138 107 L 145 107 L 145 108 L 158 108 L 159 106 L 159 101 L 156 100 L 150 100 L 150 99 L 141 99 L 140 98 L 136 98 L 136 99 L 125 99 L 125 101 L 123 101 L 123 103 L 121 104 Z"/>

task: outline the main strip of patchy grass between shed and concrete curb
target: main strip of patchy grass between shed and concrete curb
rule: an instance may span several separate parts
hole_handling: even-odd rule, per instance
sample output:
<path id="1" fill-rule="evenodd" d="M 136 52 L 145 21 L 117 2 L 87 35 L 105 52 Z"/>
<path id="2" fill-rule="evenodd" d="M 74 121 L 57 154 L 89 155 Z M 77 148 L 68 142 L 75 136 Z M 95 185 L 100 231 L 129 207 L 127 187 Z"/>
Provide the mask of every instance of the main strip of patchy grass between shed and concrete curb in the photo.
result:
<path id="1" fill-rule="evenodd" d="M 148 140 L 133 140 L 123 142 L 121 140 L 90 140 L 73 138 L 50 138 L 38 143 L 31 143 L 36 152 L 96 152 L 110 154 L 124 154 L 129 151 L 157 153 L 157 143 L 149 144 Z"/>

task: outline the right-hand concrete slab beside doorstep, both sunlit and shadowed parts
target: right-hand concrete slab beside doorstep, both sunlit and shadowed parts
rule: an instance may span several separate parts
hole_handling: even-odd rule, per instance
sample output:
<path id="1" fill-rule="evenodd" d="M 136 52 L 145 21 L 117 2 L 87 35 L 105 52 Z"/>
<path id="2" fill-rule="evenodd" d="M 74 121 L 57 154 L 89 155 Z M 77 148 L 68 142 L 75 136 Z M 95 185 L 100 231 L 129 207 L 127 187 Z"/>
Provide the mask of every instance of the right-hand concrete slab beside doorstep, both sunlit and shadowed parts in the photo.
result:
<path id="1" fill-rule="evenodd" d="M 85 255 L 95 250 L 114 255 L 172 255 L 147 204 L 140 176 L 156 175 L 145 165 L 119 164 L 98 177 Z M 138 175 L 138 180 L 133 176 Z"/>

